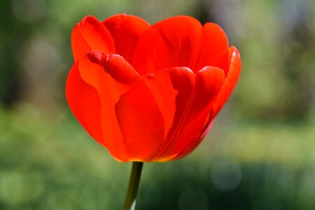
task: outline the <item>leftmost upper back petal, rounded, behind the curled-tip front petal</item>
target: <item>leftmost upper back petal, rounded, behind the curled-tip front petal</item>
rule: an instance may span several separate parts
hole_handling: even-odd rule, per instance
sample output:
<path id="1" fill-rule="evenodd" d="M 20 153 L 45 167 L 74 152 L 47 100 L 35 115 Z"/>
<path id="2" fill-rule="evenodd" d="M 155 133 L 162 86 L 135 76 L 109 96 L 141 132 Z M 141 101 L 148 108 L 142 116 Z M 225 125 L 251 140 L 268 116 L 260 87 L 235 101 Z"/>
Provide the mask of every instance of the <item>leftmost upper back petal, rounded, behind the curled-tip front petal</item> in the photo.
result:
<path id="1" fill-rule="evenodd" d="M 90 50 L 102 50 L 108 54 L 116 52 L 111 34 L 92 16 L 86 16 L 73 28 L 71 46 L 75 61 Z"/>

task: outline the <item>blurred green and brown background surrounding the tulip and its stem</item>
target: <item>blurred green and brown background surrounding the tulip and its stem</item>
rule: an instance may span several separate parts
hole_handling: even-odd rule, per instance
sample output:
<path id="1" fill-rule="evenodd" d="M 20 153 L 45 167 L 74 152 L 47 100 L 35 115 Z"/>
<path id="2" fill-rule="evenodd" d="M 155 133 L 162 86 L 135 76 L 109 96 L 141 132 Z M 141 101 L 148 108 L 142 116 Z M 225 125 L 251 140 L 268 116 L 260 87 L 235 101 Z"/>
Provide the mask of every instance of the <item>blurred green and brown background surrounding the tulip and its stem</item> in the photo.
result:
<path id="1" fill-rule="evenodd" d="M 243 64 L 200 147 L 144 165 L 137 209 L 315 209 L 312 0 L 1 0 L 0 209 L 122 209 L 131 164 L 64 97 L 73 26 L 116 13 L 216 22 Z"/>

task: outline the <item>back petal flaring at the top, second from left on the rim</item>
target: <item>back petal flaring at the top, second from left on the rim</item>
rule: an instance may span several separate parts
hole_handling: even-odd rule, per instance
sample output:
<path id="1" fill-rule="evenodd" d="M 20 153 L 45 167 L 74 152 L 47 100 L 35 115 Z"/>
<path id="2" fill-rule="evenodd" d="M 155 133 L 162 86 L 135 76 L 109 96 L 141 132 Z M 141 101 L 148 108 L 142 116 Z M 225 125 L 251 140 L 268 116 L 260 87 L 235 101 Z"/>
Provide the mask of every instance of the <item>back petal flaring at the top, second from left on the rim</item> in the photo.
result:
<path id="1" fill-rule="evenodd" d="M 116 54 L 123 56 L 127 62 L 132 62 L 134 46 L 139 36 L 150 27 L 148 22 L 133 15 L 122 14 L 114 15 L 103 23 L 111 32 Z"/>

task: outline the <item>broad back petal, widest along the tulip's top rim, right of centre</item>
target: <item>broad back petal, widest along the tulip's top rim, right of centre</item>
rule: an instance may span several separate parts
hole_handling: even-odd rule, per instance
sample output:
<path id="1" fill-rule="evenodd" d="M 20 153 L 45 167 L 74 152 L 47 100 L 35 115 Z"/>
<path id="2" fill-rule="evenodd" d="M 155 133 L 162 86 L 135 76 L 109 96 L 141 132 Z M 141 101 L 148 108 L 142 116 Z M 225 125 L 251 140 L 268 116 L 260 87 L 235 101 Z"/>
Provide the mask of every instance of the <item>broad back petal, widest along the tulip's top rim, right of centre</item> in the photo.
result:
<path id="1" fill-rule="evenodd" d="M 177 16 L 156 23 L 140 38 L 132 66 L 141 75 L 159 69 L 193 69 L 200 52 L 202 25 L 195 18 Z"/>

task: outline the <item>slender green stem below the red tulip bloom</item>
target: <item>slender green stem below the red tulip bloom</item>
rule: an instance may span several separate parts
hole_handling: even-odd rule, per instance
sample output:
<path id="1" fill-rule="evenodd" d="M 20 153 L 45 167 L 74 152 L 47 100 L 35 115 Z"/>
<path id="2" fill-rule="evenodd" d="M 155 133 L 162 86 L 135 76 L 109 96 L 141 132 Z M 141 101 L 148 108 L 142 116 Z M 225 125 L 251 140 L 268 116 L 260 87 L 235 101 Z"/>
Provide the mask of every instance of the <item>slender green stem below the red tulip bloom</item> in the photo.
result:
<path id="1" fill-rule="evenodd" d="M 124 210 L 134 210 L 136 207 L 137 192 L 143 166 L 143 162 L 132 162 L 132 172 L 130 174 Z"/>

